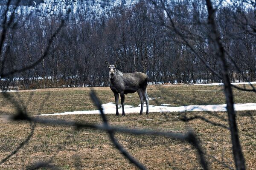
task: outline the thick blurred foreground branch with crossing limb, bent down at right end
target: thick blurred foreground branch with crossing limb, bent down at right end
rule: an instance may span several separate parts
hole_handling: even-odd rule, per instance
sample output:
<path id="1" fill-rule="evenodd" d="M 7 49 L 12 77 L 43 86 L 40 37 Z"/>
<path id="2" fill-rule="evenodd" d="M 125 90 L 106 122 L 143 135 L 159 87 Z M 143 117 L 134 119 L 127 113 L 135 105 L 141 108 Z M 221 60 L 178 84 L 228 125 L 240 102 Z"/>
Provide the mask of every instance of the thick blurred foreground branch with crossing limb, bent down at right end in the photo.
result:
<path id="1" fill-rule="evenodd" d="M 9 96 L 6 93 L 7 96 Z M 128 127 L 116 127 L 116 126 L 110 126 L 108 125 L 107 119 L 105 117 L 105 114 L 103 112 L 103 109 L 100 105 L 99 99 L 96 97 L 94 92 L 91 92 L 91 98 L 95 105 L 98 107 L 98 109 L 101 111 L 102 115 L 102 120 L 103 120 L 103 125 L 95 125 L 91 123 L 79 123 L 75 121 L 67 121 L 67 120 L 61 120 L 61 119 L 44 119 L 41 118 L 40 116 L 28 116 L 26 113 L 26 110 L 24 111 L 19 105 L 16 105 L 16 110 L 17 114 L 15 116 L 2 116 L 2 118 L 9 119 L 9 120 L 15 120 L 15 121 L 20 121 L 20 120 L 27 120 L 29 122 L 34 122 L 34 123 L 41 123 L 41 124 L 46 124 L 46 125 L 64 125 L 64 126 L 73 126 L 77 130 L 79 129 L 95 129 L 95 130 L 103 130 L 109 133 L 110 139 L 115 145 L 115 147 L 129 160 L 131 161 L 134 165 L 136 165 L 140 169 L 146 169 L 144 165 L 140 164 L 133 156 L 131 156 L 127 150 L 125 150 L 121 144 L 119 144 L 114 137 L 115 132 L 119 133 L 128 133 L 128 134 L 134 134 L 134 135 L 151 135 L 151 136 L 165 136 L 169 137 L 171 139 L 178 139 L 183 142 L 188 142 L 192 144 L 195 149 L 197 150 L 198 157 L 200 159 L 200 163 L 204 170 L 207 170 L 207 161 L 204 157 L 204 152 L 200 146 L 200 142 L 196 138 L 195 134 L 191 131 L 187 133 L 173 133 L 173 132 L 162 132 L 162 131 L 156 131 L 156 130 L 148 130 L 148 129 L 131 129 Z M 6 98 L 8 98 L 6 96 Z M 10 96 L 9 96 L 9 99 Z M 31 138 L 32 135 L 28 138 L 28 140 Z M 17 153 L 17 152 L 15 152 Z M 14 153 L 14 154 L 15 154 Z M 5 162 L 7 159 L 3 160 Z"/>

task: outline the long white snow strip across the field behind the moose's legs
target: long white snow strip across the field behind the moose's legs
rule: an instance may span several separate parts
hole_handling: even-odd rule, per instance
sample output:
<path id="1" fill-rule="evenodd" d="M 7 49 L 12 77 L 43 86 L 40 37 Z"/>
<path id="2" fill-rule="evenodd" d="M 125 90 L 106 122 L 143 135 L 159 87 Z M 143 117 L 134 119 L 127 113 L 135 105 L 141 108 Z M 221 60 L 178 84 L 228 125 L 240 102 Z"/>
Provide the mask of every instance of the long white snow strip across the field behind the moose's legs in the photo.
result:
<path id="1" fill-rule="evenodd" d="M 145 106 L 145 105 L 144 105 Z M 149 106 L 149 112 L 184 112 L 184 111 L 226 111 L 226 104 L 224 105 L 189 105 L 189 106 Z M 102 105 L 104 113 L 115 114 L 116 105 L 113 102 Z M 234 104 L 236 111 L 248 111 L 256 110 L 256 103 L 244 103 L 244 104 Z M 120 106 L 119 106 L 120 108 Z M 143 109 L 144 112 L 146 108 Z M 119 113 L 122 114 L 122 108 L 119 109 Z M 125 105 L 125 113 L 140 113 L 140 107 L 135 107 L 131 105 Z M 98 110 L 93 111 L 74 111 L 65 113 L 53 113 L 53 114 L 41 114 L 38 116 L 53 116 L 53 115 L 70 115 L 70 114 L 99 114 Z M 150 114 L 150 113 L 149 113 Z"/>

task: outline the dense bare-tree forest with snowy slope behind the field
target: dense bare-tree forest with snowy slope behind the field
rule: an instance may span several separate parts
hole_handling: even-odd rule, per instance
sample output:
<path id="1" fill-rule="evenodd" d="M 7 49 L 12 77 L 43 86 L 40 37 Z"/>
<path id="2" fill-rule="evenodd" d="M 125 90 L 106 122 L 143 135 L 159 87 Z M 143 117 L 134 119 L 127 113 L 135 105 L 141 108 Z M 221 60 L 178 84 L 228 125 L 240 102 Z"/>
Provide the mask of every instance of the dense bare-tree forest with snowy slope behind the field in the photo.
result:
<path id="1" fill-rule="evenodd" d="M 35 6 L 0 6 L 0 35 L 6 34 L 1 41 L 0 88 L 107 86 L 105 60 L 118 60 L 122 72 L 144 72 L 152 83 L 222 82 L 206 2 L 164 1 L 161 8 L 154 3 L 49 0 Z M 3 25 L 8 14 L 9 20 L 15 15 L 13 22 Z M 221 4 L 215 20 L 230 81 L 255 81 L 256 9 Z M 35 62 L 32 69 L 9 74 Z"/>

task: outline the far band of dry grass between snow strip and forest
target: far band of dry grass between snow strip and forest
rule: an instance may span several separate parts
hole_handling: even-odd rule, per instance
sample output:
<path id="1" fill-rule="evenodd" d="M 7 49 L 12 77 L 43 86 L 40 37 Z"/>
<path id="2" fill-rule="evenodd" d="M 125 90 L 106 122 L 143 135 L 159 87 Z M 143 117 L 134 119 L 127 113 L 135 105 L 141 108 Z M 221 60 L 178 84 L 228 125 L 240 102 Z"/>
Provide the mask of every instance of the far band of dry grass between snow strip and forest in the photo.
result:
<path id="1" fill-rule="evenodd" d="M 113 92 L 109 87 L 100 88 L 52 88 L 38 89 L 35 91 L 20 91 L 19 93 L 8 93 L 16 99 L 15 102 L 23 102 L 30 115 L 62 113 L 67 111 L 95 110 L 96 107 L 90 100 L 90 90 L 94 89 L 102 103 L 114 102 Z M 225 98 L 222 86 L 202 85 L 172 85 L 172 86 L 148 86 L 148 96 L 157 98 L 150 100 L 150 105 L 161 103 L 172 106 L 183 105 L 207 105 L 224 104 Z M 244 92 L 234 89 L 236 103 L 256 102 L 256 95 L 253 92 Z M 129 97 L 131 96 L 131 97 Z M 160 97 L 160 98 L 158 98 Z M 119 101 L 120 103 L 120 101 Z M 125 104 L 138 106 L 140 99 L 137 93 L 125 95 Z M 42 109 L 41 106 L 43 106 Z M 0 114 L 15 113 L 13 102 L 3 98 L 0 93 Z"/>

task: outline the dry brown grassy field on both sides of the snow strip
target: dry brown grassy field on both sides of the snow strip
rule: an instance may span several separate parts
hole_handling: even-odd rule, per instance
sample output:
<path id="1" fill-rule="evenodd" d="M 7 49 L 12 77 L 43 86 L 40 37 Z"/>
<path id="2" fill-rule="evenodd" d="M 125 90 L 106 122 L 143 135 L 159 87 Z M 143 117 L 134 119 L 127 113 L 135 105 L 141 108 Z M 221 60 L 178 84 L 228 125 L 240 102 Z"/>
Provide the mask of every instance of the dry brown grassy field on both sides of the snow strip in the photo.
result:
<path id="1" fill-rule="evenodd" d="M 102 103 L 114 102 L 110 88 L 63 88 L 40 89 L 8 93 L 14 100 L 8 101 L 0 93 L 0 114 L 14 114 L 14 102 L 26 106 L 30 115 L 61 113 L 66 111 L 95 110 L 90 100 L 90 90 L 94 89 Z M 256 102 L 256 94 L 234 89 L 236 103 Z M 131 97 L 129 97 L 131 96 Z M 149 86 L 150 105 L 161 103 L 172 106 L 224 104 L 221 86 Z M 160 98 L 158 98 L 160 97 Z M 23 102 L 21 102 L 23 101 Z M 137 94 L 126 95 L 125 104 L 137 106 Z M 210 169 L 227 169 L 219 161 L 233 167 L 233 157 L 229 130 L 212 126 L 200 119 L 190 122 L 180 121 L 182 116 L 204 116 L 212 122 L 227 124 L 224 112 L 149 113 L 148 116 L 127 114 L 107 115 L 111 125 L 131 128 L 146 128 L 161 131 L 186 132 L 194 130 L 207 153 Z M 46 117 L 45 117 L 46 118 Z M 76 120 L 100 124 L 99 115 L 49 116 L 49 118 Z M 241 146 L 247 169 L 256 166 L 256 111 L 237 113 Z M 23 142 L 31 131 L 28 122 L 7 122 L 0 120 L 0 159 Z M 157 136 L 136 136 L 116 133 L 116 138 L 136 159 L 148 169 L 201 169 L 195 149 L 191 144 Z M 214 158 L 212 157 L 214 156 Z M 117 151 L 105 132 L 99 130 L 41 125 L 35 127 L 34 134 L 23 148 L 0 169 L 26 169 L 36 161 L 52 160 L 63 169 L 136 169 Z"/>

